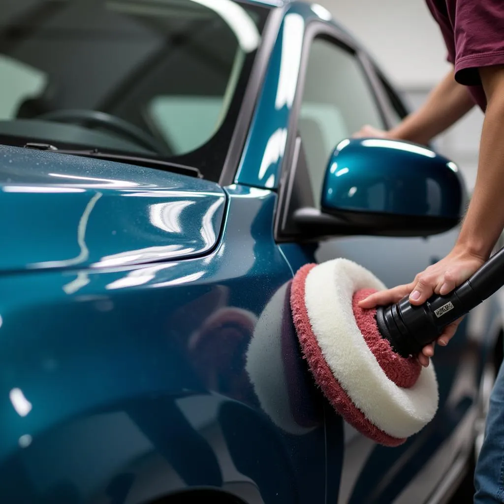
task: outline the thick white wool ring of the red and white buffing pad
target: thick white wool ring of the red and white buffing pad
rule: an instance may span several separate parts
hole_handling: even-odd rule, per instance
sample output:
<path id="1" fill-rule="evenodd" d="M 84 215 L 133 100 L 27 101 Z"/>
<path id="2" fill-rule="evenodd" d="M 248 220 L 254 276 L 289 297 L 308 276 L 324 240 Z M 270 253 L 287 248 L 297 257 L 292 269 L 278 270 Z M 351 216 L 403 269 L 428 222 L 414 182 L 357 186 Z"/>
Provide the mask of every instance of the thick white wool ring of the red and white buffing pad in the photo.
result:
<path id="1" fill-rule="evenodd" d="M 353 294 L 384 290 L 371 272 L 347 259 L 312 268 L 306 277 L 305 305 L 314 335 L 336 380 L 366 418 L 385 433 L 409 437 L 434 417 L 439 396 L 432 362 L 409 389 L 392 382 L 369 350 L 355 321 Z"/>

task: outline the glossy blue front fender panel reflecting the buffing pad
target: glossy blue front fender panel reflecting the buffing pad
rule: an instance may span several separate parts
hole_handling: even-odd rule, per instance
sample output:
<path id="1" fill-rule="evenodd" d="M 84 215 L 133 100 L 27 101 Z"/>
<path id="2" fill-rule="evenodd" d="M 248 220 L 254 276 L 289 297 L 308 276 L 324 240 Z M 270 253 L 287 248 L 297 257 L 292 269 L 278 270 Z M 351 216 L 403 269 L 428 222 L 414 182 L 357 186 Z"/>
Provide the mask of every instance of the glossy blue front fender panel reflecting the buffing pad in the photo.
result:
<path id="1" fill-rule="evenodd" d="M 299 350 L 269 367 L 263 403 L 245 367 L 265 304 L 292 277 L 271 234 L 276 197 L 227 192 L 225 230 L 204 257 L 0 277 L 4 497 L 144 502 L 204 485 L 250 502 L 324 501 L 324 402 Z M 290 317 L 286 327 L 294 342 Z"/>

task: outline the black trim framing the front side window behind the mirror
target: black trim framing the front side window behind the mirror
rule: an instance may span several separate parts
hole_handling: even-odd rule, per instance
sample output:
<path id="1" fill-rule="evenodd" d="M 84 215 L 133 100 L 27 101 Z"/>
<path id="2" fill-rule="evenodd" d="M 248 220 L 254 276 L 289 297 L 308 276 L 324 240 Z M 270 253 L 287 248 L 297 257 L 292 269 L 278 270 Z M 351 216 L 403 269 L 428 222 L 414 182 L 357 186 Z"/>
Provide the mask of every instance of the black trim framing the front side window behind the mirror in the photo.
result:
<path id="1" fill-rule="evenodd" d="M 285 155 L 280 166 L 279 174 L 279 184 L 278 184 L 278 198 L 275 206 L 274 219 L 273 219 L 273 234 L 275 241 L 277 243 L 288 242 L 297 243 L 305 241 L 320 241 L 327 236 L 313 234 L 306 236 L 302 231 L 289 232 L 287 234 L 282 233 L 282 229 L 289 216 L 285 214 L 289 212 L 289 203 L 292 196 L 292 187 L 295 183 L 293 177 L 295 175 L 297 164 L 302 162 L 302 156 L 300 156 L 300 151 L 302 151 L 302 142 L 297 131 L 297 123 L 299 119 L 299 111 L 301 107 L 301 101 L 304 91 L 304 83 L 306 77 L 306 68 L 308 65 L 308 58 L 311 50 L 311 44 L 316 38 L 325 38 L 331 41 L 335 45 L 342 47 L 343 49 L 352 52 L 357 60 L 359 61 L 364 77 L 368 82 L 369 89 L 374 97 L 376 106 L 379 109 L 380 116 L 384 121 L 386 127 L 390 125 L 390 119 L 387 117 L 387 113 L 383 107 L 384 97 L 380 95 L 380 89 L 377 81 L 377 76 L 374 74 L 370 61 L 367 58 L 366 53 L 357 45 L 357 43 L 348 36 L 345 32 L 340 30 L 334 25 L 329 25 L 319 20 L 311 21 L 307 24 L 304 37 L 303 37 L 303 48 L 301 52 L 301 62 L 299 66 L 298 82 L 296 85 L 296 94 L 294 96 L 294 101 L 292 104 L 292 110 L 289 117 L 289 124 L 287 129 L 287 141 L 285 146 Z M 373 78 L 374 75 L 374 78 Z M 299 166 L 300 169 L 306 170 L 306 166 Z M 310 188 L 308 187 L 310 190 Z M 303 191 L 304 193 L 304 191 Z M 311 190 L 310 190 L 311 193 Z M 314 207 L 312 193 L 310 195 L 303 195 L 303 199 L 307 202 L 311 202 L 311 206 Z M 349 229 L 346 226 L 342 227 L 342 235 L 348 235 Z"/>

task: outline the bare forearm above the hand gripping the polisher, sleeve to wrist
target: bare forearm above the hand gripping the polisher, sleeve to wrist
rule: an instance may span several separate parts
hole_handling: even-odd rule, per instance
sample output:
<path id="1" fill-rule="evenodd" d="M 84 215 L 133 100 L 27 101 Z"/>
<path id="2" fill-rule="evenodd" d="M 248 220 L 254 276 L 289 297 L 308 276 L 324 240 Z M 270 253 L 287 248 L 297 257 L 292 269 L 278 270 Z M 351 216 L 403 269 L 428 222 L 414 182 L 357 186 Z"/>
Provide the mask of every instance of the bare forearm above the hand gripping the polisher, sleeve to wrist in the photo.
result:
<path id="1" fill-rule="evenodd" d="M 488 105 L 476 184 L 457 241 L 459 247 L 484 259 L 504 228 L 504 75 L 500 80 L 485 89 Z"/>

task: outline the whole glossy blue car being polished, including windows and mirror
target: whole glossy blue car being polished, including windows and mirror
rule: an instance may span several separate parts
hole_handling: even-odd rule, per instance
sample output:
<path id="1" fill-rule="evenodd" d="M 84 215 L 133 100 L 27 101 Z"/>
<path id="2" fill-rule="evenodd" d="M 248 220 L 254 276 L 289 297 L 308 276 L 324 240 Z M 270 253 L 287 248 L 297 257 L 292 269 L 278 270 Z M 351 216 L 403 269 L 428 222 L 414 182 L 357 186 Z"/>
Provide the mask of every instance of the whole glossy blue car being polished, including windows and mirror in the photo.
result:
<path id="1" fill-rule="evenodd" d="M 300 267 L 409 282 L 469 197 L 428 146 L 351 140 L 408 110 L 330 13 L 0 12 L 0 501 L 412 504 L 470 486 L 495 296 L 436 348 L 437 414 L 396 448 L 335 412 L 292 325 Z"/>

